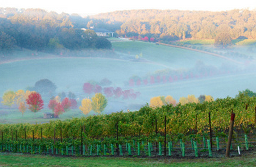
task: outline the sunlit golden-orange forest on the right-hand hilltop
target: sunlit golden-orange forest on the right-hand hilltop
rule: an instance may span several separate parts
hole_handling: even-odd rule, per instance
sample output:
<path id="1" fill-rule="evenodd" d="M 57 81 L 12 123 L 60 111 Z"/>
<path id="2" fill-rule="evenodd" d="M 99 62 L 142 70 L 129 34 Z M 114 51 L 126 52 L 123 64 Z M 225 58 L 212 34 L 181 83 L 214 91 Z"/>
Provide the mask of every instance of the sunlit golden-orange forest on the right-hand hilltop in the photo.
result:
<path id="1" fill-rule="evenodd" d="M 215 39 L 228 33 L 232 39 L 256 39 L 256 11 L 222 12 L 178 10 L 116 11 L 92 16 L 95 27 L 113 25 L 118 34 L 160 41 Z M 120 25 L 120 28 L 116 25 Z"/>

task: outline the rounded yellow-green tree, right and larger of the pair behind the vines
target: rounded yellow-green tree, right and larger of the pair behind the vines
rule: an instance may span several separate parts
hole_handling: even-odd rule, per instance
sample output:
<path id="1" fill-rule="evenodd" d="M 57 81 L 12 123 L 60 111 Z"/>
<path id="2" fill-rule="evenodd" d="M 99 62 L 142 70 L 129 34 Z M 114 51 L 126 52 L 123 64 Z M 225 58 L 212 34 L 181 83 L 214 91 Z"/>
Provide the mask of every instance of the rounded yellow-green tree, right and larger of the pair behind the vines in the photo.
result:
<path id="1" fill-rule="evenodd" d="M 100 113 L 107 107 L 107 99 L 101 93 L 96 93 L 92 98 L 92 110 Z"/>

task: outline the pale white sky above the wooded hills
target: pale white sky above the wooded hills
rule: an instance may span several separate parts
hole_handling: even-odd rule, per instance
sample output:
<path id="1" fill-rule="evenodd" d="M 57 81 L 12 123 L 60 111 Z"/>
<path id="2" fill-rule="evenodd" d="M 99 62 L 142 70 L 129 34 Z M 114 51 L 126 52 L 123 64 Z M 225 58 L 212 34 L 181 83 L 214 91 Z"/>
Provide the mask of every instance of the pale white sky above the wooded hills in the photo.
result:
<path id="1" fill-rule="evenodd" d="M 190 10 L 190 11 L 229 11 L 233 9 L 249 8 L 256 9 L 256 3 L 253 0 L 91 0 L 91 1 L 59 1 L 59 0 L 6 0 L 0 3 L 0 7 L 15 8 L 41 8 L 48 12 L 57 13 L 76 13 L 82 16 L 93 15 L 106 12 L 139 10 L 139 9 L 159 9 L 159 10 Z"/>

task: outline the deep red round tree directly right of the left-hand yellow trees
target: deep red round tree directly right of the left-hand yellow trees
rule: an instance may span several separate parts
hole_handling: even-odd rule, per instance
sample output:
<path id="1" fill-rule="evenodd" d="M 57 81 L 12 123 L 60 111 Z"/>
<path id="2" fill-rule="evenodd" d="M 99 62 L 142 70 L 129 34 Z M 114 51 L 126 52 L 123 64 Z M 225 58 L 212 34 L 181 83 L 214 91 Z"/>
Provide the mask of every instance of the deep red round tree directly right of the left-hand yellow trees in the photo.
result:
<path id="1" fill-rule="evenodd" d="M 29 109 L 32 112 L 38 112 L 44 107 L 44 101 L 42 101 L 41 95 L 37 92 L 33 92 L 28 96 L 26 100 L 27 104 L 29 105 Z"/>

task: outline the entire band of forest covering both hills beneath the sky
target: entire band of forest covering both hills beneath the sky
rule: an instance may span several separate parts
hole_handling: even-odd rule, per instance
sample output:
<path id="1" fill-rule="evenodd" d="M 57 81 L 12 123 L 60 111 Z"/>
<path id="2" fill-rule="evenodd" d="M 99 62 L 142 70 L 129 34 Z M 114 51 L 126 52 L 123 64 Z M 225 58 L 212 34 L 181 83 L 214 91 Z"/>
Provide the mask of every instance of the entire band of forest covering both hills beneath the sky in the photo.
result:
<path id="1" fill-rule="evenodd" d="M 229 45 L 232 39 L 256 39 L 256 11 L 131 10 L 81 17 L 41 9 L 0 8 L 0 51 L 4 54 L 20 47 L 59 54 L 63 49 L 111 48 L 95 29 L 151 42 L 225 38 Z"/>

